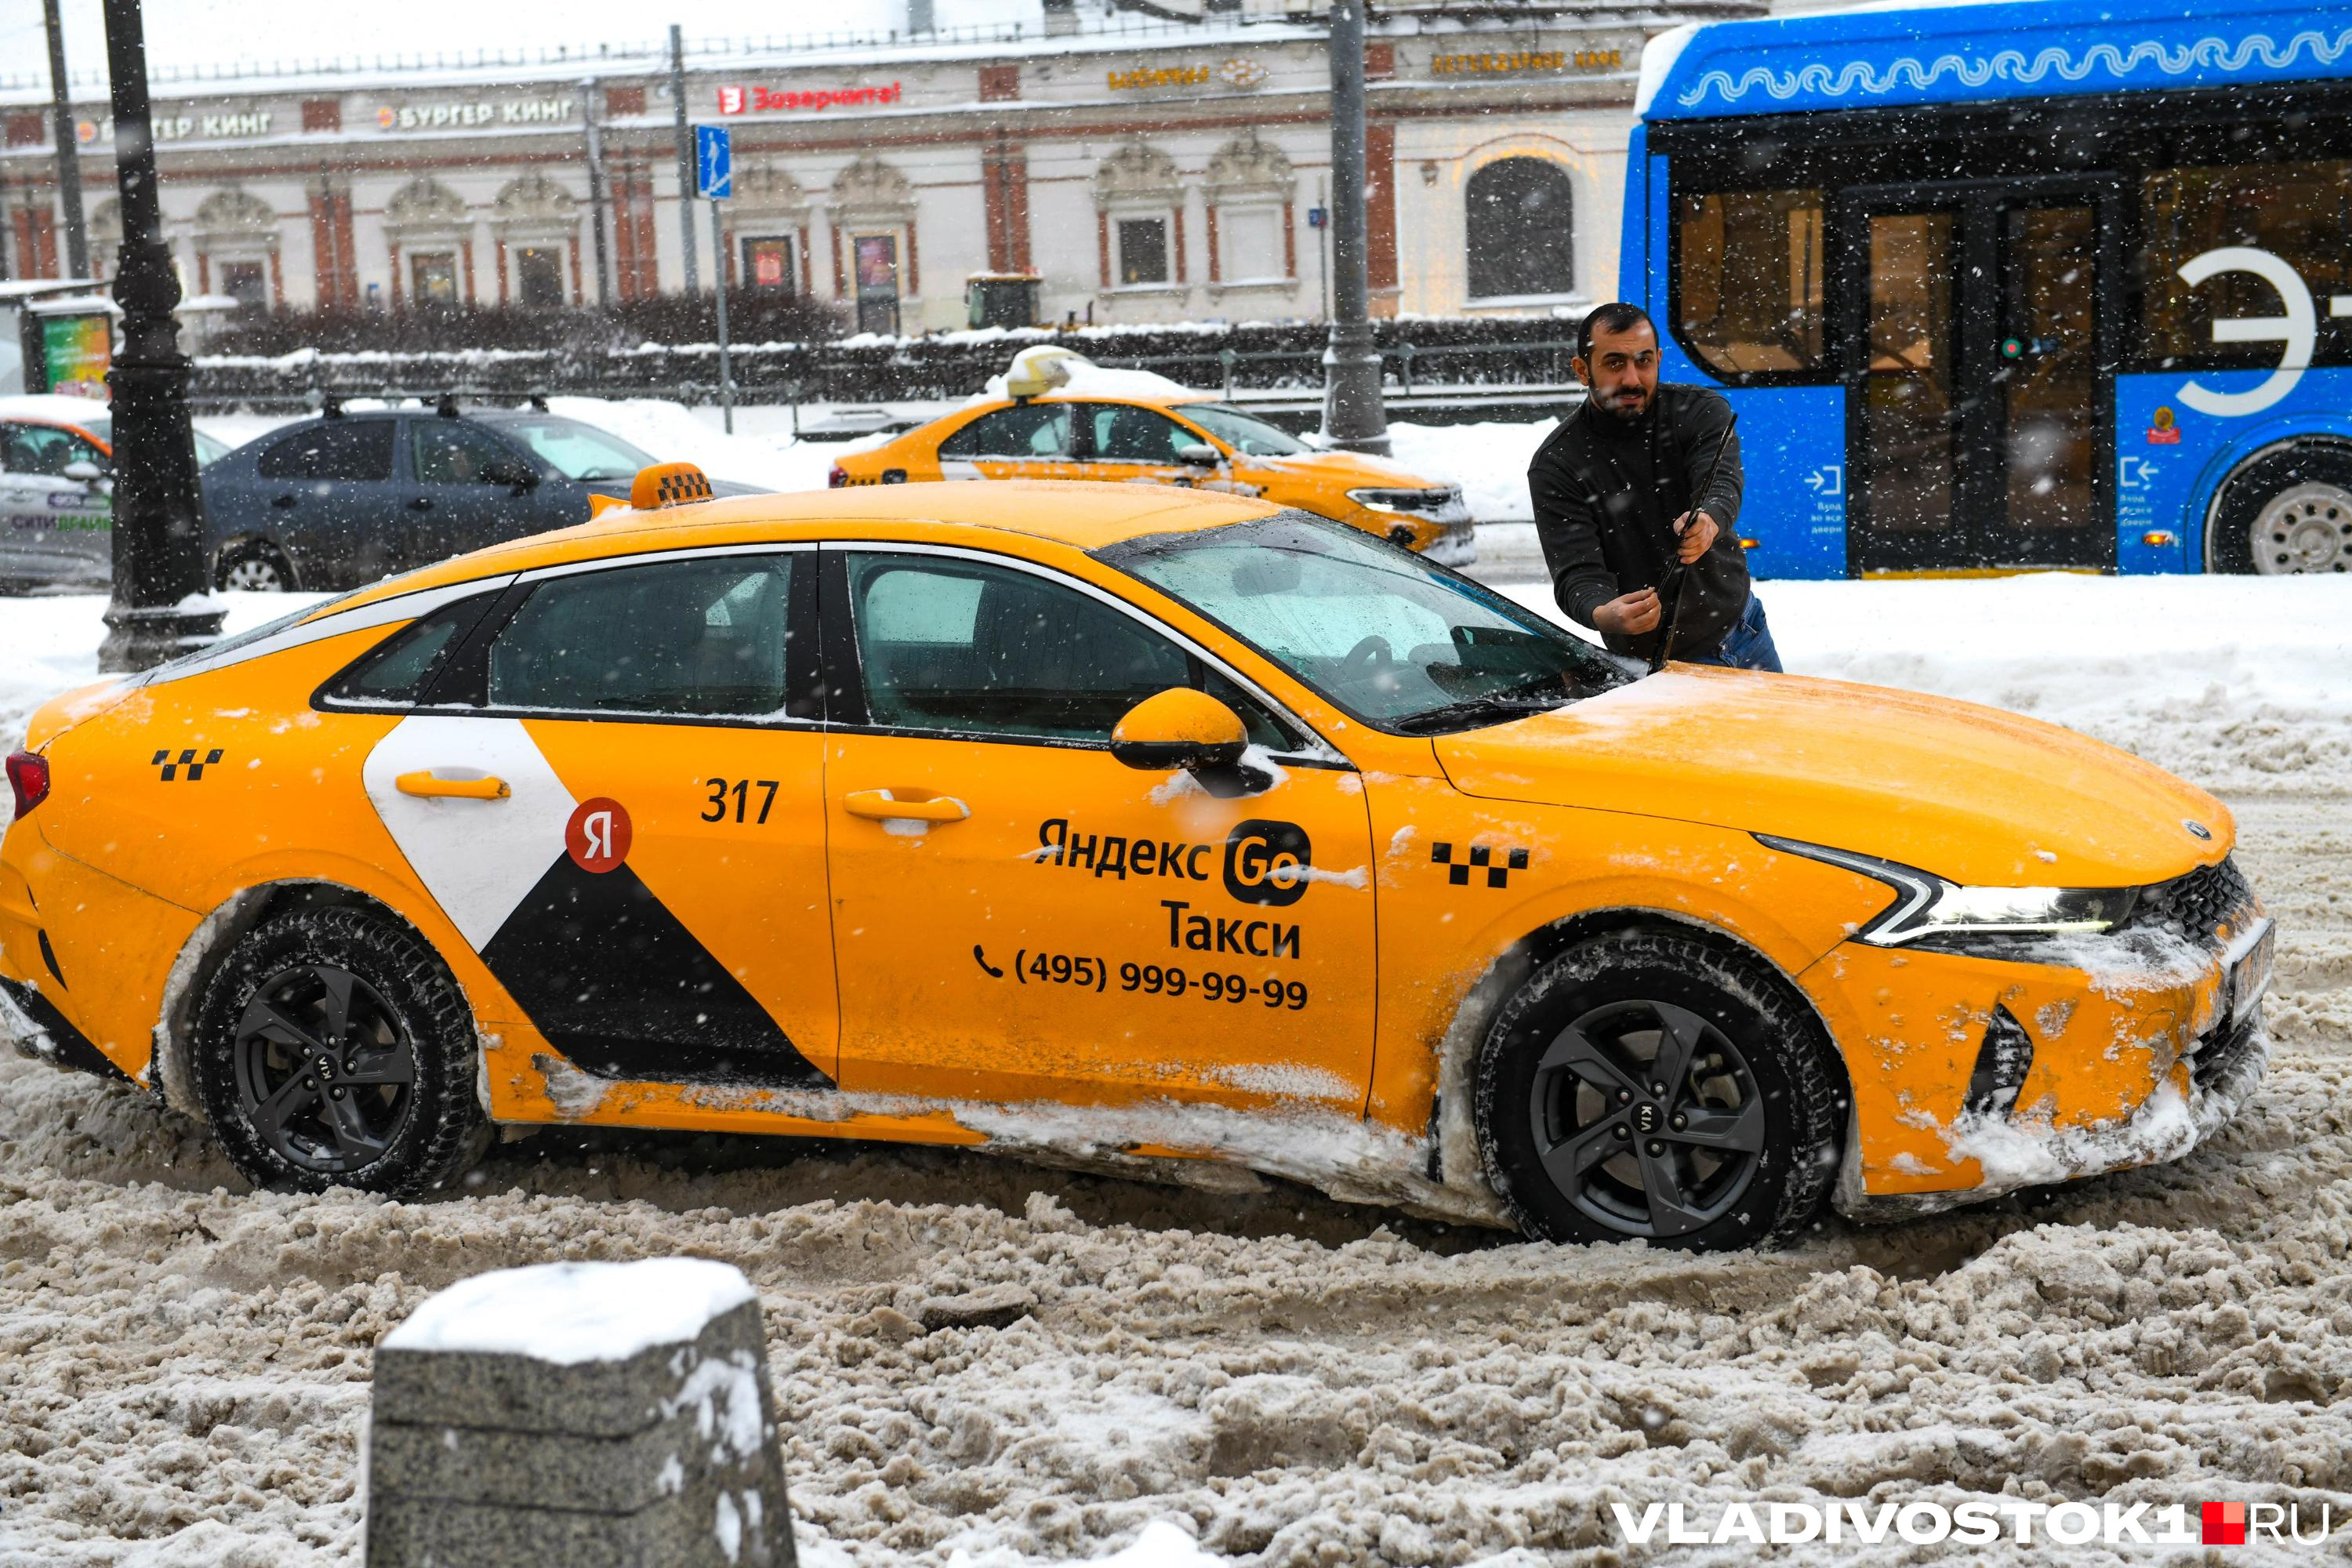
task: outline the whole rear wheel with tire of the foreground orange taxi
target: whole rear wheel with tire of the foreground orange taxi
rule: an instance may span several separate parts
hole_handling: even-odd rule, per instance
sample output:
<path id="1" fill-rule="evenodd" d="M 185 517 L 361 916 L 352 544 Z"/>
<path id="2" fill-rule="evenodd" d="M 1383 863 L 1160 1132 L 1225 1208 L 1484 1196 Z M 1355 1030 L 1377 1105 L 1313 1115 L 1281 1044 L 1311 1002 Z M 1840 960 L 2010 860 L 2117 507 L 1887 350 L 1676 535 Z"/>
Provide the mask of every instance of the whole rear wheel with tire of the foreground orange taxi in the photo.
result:
<path id="1" fill-rule="evenodd" d="M 414 1197 L 487 1145 L 473 1013 L 449 969 L 383 914 L 254 926 L 205 987 L 195 1084 L 256 1187 Z"/>

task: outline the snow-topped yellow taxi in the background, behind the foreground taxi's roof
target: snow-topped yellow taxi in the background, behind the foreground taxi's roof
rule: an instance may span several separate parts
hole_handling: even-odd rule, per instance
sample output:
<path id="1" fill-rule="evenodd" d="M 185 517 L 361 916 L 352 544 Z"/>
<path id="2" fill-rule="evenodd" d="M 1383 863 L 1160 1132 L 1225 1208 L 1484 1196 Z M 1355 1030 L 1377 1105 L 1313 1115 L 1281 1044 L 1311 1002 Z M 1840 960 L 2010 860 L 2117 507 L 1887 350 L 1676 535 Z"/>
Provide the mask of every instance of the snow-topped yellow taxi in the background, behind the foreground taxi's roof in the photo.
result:
<path id="1" fill-rule="evenodd" d="M 1075 367 L 1075 376 L 1073 376 Z M 1256 414 L 1138 371 L 1096 371 L 1056 346 L 1025 348 L 1004 395 L 882 447 L 842 456 L 828 482 L 1096 480 L 1174 484 L 1348 522 L 1444 567 L 1477 559 L 1458 484 L 1357 451 L 1317 451 Z"/>

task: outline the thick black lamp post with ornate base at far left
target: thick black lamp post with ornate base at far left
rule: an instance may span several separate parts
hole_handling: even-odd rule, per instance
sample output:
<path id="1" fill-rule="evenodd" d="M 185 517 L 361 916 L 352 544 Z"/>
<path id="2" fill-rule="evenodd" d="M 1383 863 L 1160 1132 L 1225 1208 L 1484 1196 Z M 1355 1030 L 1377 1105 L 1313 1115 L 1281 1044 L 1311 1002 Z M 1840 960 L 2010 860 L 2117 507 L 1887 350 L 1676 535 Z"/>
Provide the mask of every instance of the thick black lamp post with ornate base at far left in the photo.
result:
<path id="1" fill-rule="evenodd" d="M 106 607 L 99 670 L 146 670 L 221 635 L 205 599 L 205 494 L 188 428 L 188 357 L 179 353 L 179 277 L 155 200 L 155 132 L 146 94 L 139 0 L 106 0 L 106 73 L 113 78 L 115 181 L 122 254 L 115 303 L 122 346 L 106 381 L 115 423 L 115 592 Z"/>

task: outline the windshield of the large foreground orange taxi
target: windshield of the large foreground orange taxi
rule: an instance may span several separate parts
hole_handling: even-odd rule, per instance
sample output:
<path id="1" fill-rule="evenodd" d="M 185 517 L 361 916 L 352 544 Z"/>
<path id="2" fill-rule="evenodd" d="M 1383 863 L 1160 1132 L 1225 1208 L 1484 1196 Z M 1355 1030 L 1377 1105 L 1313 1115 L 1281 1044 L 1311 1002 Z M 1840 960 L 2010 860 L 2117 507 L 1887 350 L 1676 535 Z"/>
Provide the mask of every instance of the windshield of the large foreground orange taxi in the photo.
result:
<path id="1" fill-rule="evenodd" d="M 1303 512 L 1096 555 L 1390 733 L 1501 724 L 1639 677 L 1470 578 Z"/>

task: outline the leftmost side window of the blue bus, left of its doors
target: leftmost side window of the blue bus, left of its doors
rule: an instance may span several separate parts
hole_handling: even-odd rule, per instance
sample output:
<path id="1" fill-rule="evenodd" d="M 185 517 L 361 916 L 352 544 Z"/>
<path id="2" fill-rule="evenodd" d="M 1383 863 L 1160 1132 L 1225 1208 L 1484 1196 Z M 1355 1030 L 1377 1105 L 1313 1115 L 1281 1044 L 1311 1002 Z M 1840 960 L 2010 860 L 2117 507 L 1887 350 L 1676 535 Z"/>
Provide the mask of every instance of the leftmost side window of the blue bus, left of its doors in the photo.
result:
<path id="1" fill-rule="evenodd" d="M 1724 376 L 1823 367 L 1820 190 L 1719 190 L 1682 200 L 1675 322 Z"/>

